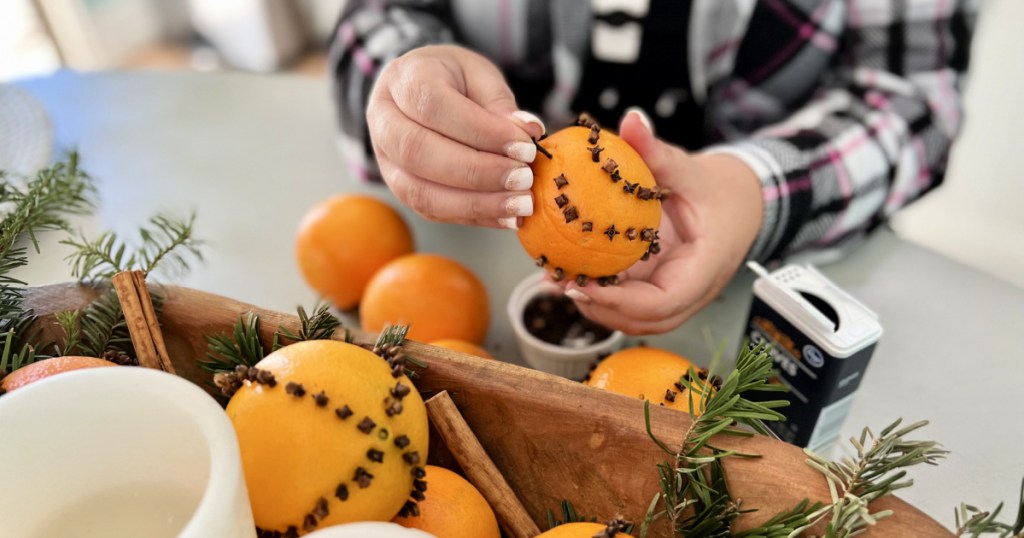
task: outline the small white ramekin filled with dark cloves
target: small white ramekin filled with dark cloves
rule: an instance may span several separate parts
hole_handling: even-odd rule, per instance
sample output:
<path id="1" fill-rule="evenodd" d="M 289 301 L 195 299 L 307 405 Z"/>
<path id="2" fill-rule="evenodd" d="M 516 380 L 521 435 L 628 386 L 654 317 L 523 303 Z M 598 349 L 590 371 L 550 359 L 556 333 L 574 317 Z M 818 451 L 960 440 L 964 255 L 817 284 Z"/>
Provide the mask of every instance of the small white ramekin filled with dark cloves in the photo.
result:
<path id="1" fill-rule="evenodd" d="M 512 290 L 508 315 L 526 363 L 569 379 L 582 379 L 625 338 L 622 332 L 585 318 L 544 272 L 526 277 Z"/>

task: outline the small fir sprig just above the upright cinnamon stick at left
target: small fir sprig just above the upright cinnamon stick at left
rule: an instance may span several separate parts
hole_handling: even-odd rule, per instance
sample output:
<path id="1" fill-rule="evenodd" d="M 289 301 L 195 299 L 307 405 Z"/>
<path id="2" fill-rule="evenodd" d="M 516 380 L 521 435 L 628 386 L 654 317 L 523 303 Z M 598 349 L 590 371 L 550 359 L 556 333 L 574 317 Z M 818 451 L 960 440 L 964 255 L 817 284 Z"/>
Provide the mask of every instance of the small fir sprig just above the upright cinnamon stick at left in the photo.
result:
<path id="1" fill-rule="evenodd" d="M 123 271 L 140 270 L 146 275 L 156 268 L 173 273 L 188 270 L 189 258 L 203 259 L 203 242 L 194 237 L 195 213 L 185 220 L 164 215 L 150 218 L 151 227 L 139 229 L 138 245 L 129 249 L 114 232 L 104 232 L 89 241 L 79 232 L 61 244 L 75 249 L 66 259 L 72 277 L 82 282 L 106 281 Z"/>

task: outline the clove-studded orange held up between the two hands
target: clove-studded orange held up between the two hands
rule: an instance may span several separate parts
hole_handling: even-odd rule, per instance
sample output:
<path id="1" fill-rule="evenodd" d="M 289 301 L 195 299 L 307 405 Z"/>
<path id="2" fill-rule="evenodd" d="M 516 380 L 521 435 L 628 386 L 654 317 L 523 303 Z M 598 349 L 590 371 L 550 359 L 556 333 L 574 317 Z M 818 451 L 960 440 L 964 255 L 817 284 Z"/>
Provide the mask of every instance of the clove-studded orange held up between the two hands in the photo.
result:
<path id="1" fill-rule="evenodd" d="M 535 211 L 518 234 L 555 280 L 606 285 L 657 253 L 664 193 L 629 143 L 593 129 L 567 127 L 541 140 L 551 158 L 539 154 L 530 165 Z"/>

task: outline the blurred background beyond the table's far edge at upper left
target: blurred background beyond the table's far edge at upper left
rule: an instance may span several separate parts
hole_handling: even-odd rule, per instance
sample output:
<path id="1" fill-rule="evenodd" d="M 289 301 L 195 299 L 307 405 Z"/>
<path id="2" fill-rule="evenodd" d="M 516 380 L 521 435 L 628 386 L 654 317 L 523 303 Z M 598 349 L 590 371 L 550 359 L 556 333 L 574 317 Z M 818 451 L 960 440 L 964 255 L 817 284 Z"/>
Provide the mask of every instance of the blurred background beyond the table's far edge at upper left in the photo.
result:
<path id="1" fill-rule="evenodd" d="M 3 0 L 0 81 L 164 69 L 325 76 L 344 0 Z"/>

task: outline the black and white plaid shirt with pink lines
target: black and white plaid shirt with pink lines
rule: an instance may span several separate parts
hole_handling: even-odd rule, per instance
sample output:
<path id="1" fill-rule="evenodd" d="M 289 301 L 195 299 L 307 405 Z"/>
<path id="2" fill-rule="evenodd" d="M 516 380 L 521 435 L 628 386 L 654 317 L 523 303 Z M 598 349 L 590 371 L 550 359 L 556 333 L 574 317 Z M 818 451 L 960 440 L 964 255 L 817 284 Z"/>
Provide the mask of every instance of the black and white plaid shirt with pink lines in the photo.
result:
<path id="1" fill-rule="evenodd" d="M 689 87 L 647 112 L 660 132 L 674 99 L 692 104 L 702 122 L 689 149 L 734 155 L 760 177 L 752 259 L 851 244 L 941 183 L 974 0 L 349 0 L 330 49 L 344 153 L 379 179 L 368 96 L 384 64 L 426 44 L 486 55 L 520 107 L 567 123 L 588 55 L 636 61 L 637 32 L 665 1 L 687 6 L 676 35 Z"/>

